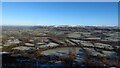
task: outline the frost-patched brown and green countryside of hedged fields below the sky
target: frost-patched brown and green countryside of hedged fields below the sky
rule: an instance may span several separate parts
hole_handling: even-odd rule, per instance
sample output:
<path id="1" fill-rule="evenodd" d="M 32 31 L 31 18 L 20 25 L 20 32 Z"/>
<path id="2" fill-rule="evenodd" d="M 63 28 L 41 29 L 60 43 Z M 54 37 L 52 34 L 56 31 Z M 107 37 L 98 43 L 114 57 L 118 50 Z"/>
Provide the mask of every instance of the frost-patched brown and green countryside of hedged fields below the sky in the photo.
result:
<path id="1" fill-rule="evenodd" d="M 117 26 L 3 26 L 3 68 L 119 67 Z"/>

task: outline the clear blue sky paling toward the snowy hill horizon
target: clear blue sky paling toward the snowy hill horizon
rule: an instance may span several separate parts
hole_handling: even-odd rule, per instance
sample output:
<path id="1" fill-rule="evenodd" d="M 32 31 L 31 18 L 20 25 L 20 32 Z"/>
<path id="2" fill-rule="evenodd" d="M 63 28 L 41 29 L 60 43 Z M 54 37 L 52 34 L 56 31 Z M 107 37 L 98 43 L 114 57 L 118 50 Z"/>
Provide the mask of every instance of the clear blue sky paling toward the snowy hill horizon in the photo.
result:
<path id="1" fill-rule="evenodd" d="M 2 25 L 118 25 L 117 2 L 3 2 Z"/>

